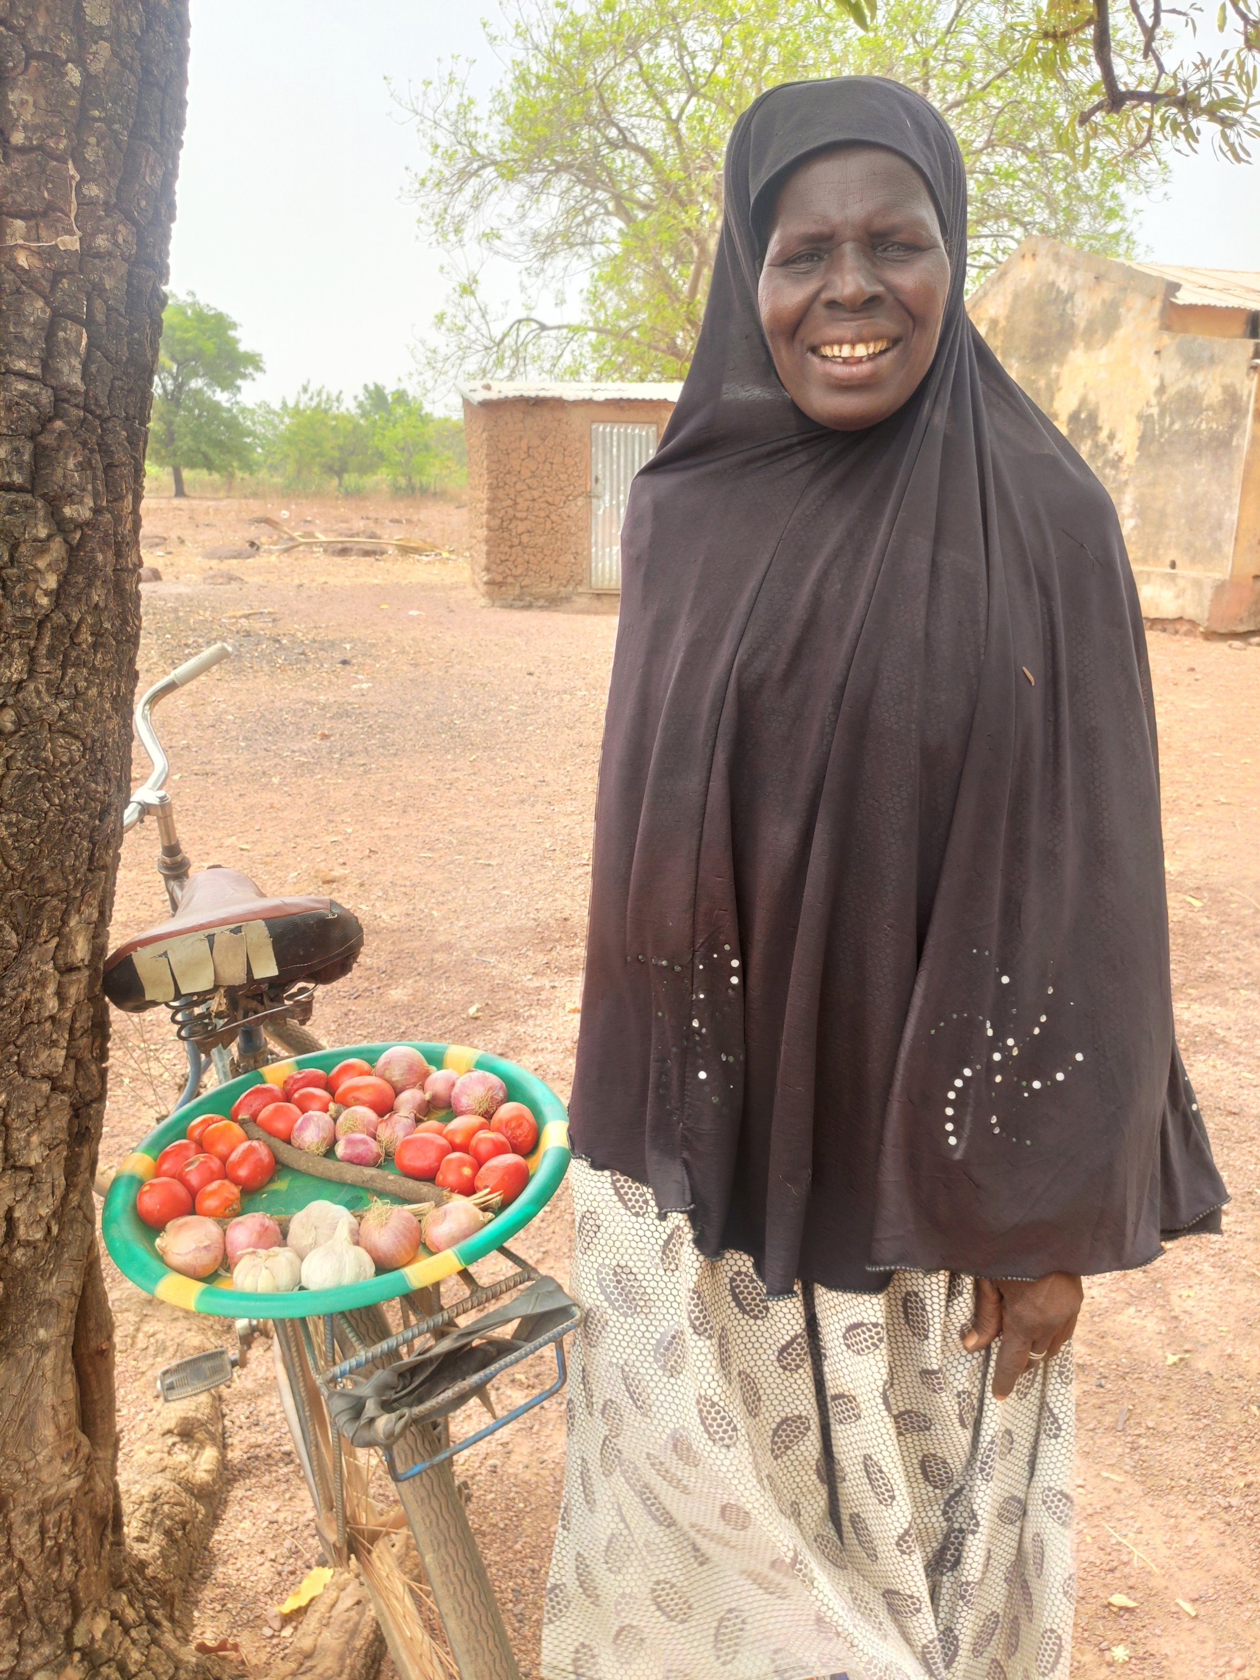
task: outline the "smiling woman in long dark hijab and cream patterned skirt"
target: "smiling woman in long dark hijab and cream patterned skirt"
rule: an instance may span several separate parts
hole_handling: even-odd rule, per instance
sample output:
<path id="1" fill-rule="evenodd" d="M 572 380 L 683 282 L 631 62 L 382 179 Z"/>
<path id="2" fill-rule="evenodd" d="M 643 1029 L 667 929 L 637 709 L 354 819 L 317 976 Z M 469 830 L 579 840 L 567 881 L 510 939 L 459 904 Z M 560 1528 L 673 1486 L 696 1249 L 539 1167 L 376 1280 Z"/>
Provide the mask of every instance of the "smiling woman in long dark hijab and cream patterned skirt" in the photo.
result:
<path id="1" fill-rule="evenodd" d="M 1067 1680 L 1080 1278 L 1225 1201 L 1132 575 L 926 101 L 778 87 L 724 202 L 623 533 L 544 1672 Z"/>

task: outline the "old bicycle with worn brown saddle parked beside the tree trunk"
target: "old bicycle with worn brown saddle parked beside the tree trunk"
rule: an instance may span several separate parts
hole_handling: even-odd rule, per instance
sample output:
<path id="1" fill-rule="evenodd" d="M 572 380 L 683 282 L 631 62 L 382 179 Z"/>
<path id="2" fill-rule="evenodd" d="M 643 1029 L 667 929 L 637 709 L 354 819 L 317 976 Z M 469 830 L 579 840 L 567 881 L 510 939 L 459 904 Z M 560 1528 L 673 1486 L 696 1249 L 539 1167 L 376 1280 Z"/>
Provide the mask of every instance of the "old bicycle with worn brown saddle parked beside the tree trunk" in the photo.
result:
<path id="1" fill-rule="evenodd" d="M 175 810 L 166 780 L 170 763 L 153 726 L 153 709 L 176 689 L 212 670 L 228 659 L 232 648 L 223 642 L 205 648 L 170 675 L 155 682 L 136 707 L 134 724 L 141 748 L 150 758 L 148 780 L 131 795 L 123 816 L 123 830 L 129 832 L 153 815 L 158 825 L 158 874 L 163 880 L 171 916 L 165 922 L 144 929 L 124 941 L 106 959 L 104 991 L 109 1001 L 128 1013 L 143 1013 L 165 1006 L 170 1011 L 176 1037 L 185 1047 L 188 1077 L 171 1116 L 146 1139 L 161 1144 L 180 1134 L 186 1116 L 208 1112 L 213 1099 L 198 1097 L 207 1077 L 213 1074 L 213 1089 L 240 1082 L 244 1075 L 257 1074 L 277 1063 L 292 1065 L 301 1057 L 306 1065 L 326 1063 L 324 1072 L 349 1053 L 380 1052 L 383 1045 L 360 1045 L 344 1050 L 324 1050 L 307 1030 L 314 1008 L 316 988 L 333 984 L 354 966 L 363 948 L 363 927 L 358 917 L 334 899 L 324 897 L 269 897 L 249 875 L 210 865 L 192 874 L 192 862 L 178 838 Z M 447 1057 L 477 1057 L 477 1052 L 460 1047 L 423 1047 L 445 1052 Z M 497 1062 L 497 1058 L 492 1058 Z M 447 1065 L 452 1065 L 447 1060 Z M 470 1065 L 470 1063 L 469 1063 Z M 512 1063 L 497 1063 L 504 1072 Z M 279 1072 L 279 1070 L 277 1070 Z M 554 1094 L 524 1070 L 516 1070 L 536 1087 L 536 1100 L 548 1100 L 563 1116 Z M 242 1087 L 244 1089 L 244 1087 Z M 227 1092 L 223 1094 L 228 1095 Z M 222 1099 L 220 1099 L 222 1107 Z M 185 1116 L 186 1110 L 186 1116 Z M 215 1110 L 217 1112 L 217 1110 Z M 568 1164 L 566 1141 L 548 1146 L 548 1131 L 563 1132 L 563 1119 L 544 1129 L 539 1151 L 551 1151 L 549 1183 L 539 1184 L 533 1211 L 538 1211 Z M 168 1136 L 170 1134 L 170 1136 Z M 144 1146 L 141 1146 L 143 1151 Z M 563 1161 L 556 1158 L 563 1152 Z M 546 1154 L 544 1154 L 546 1159 Z M 128 1174 L 129 1163 L 146 1163 L 151 1158 L 139 1152 L 128 1158 L 119 1169 L 119 1179 Z M 556 1166 L 559 1176 L 556 1176 Z M 138 1186 L 131 1168 L 131 1181 Z M 538 1179 L 544 1174 L 538 1171 Z M 134 1189 L 131 1189 L 134 1201 Z M 528 1198 L 519 1198 L 524 1203 Z M 139 1252 L 134 1240 L 128 1242 L 128 1208 L 113 1215 L 111 1201 L 126 1201 L 126 1186 L 114 1181 L 102 1216 L 106 1243 L 124 1275 L 150 1292 L 151 1262 Z M 521 1210 L 512 1230 L 526 1223 L 533 1211 Z M 133 1231 L 133 1238 L 134 1238 Z M 151 1235 L 151 1233 L 150 1233 Z M 511 1231 L 507 1233 L 511 1235 Z M 113 1236 L 113 1240 L 111 1240 Z M 475 1250 L 465 1258 L 464 1248 Z M 487 1253 L 502 1255 L 511 1272 L 491 1282 L 479 1280 L 469 1260 Z M 457 1260 L 452 1265 L 433 1262 Z M 131 1263 L 129 1263 L 131 1262 Z M 161 1270 L 158 1267 L 158 1270 Z M 521 1260 L 502 1242 L 474 1238 L 445 1255 L 430 1258 L 425 1265 L 408 1268 L 417 1273 L 415 1287 L 396 1289 L 391 1295 L 373 1295 L 371 1304 L 353 1299 L 363 1285 L 346 1285 L 353 1305 L 319 1309 L 318 1315 L 301 1315 L 302 1302 L 296 1297 L 247 1297 L 255 1302 L 274 1302 L 270 1320 L 272 1361 L 281 1391 L 281 1403 L 292 1435 L 294 1448 L 316 1510 L 316 1529 L 331 1562 L 346 1564 L 354 1557 L 371 1594 L 376 1620 L 390 1648 L 390 1655 L 403 1680 L 519 1680 L 516 1660 L 489 1586 L 486 1566 L 469 1527 L 460 1499 L 452 1458 L 455 1453 L 484 1440 L 494 1430 L 522 1416 L 558 1393 L 566 1378 L 563 1337 L 576 1326 L 578 1309 L 559 1292 L 549 1299 L 548 1314 L 517 1315 L 506 1302 L 512 1292 L 526 1305 L 531 1290 L 538 1297 L 541 1285 L 559 1287 L 543 1278 L 534 1267 Z M 423 1280 L 420 1277 L 423 1275 Z M 452 1275 L 464 1285 L 464 1295 L 444 1302 L 440 1277 Z M 402 1273 L 390 1273 L 402 1277 Z M 190 1284 L 190 1280 L 180 1280 Z M 378 1280 L 383 1282 L 383 1280 Z M 408 1280 L 412 1282 L 412 1280 Z M 183 1295 L 183 1290 L 180 1292 Z M 192 1295 L 218 1295 L 217 1302 L 181 1299 L 193 1310 L 218 1312 L 227 1305 L 215 1289 L 192 1287 Z M 170 1299 L 170 1297 L 168 1297 Z M 316 1297 L 309 1297 L 316 1302 Z M 390 1324 L 383 1300 L 398 1302 L 398 1329 Z M 538 1297 L 541 1299 L 541 1297 Z M 395 1514 L 381 1512 L 370 1492 L 368 1450 L 346 1445 L 333 1421 L 329 1398 L 344 1394 L 360 1373 L 380 1373 L 390 1364 L 408 1357 L 428 1341 L 420 1356 L 438 1364 L 447 1354 L 438 1344 L 469 1349 L 482 1319 L 460 1326 L 482 1307 L 496 1310 L 484 1315 L 491 1327 L 502 1329 L 519 1317 L 516 1344 L 507 1346 L 501 1336 L 494 1344 L 494 1357 L 469 1374 L 467 1359 L 455 1368 L 457 1376 L 435 1391 L 425 1391 L 423 1399 L 408 1404 L 403 1425 L 385 1445 L 376 1445 L 398 1497 Z M 491 1322 L 494 1320 L 494 1322 Z M 158 1373 L 158 1393 L 163 1399 L 181 1399 L 208 1388 L 230 1383 L 234 1366 L 244 1364 L 254 1334 L 262 1319 L 237 1317 L 239 1351 L 220 1347 L 193 1354 Z M 521 1339 L 524 1336 L 524 1339 Z M 507 1346 L 507 1352 L 502 1352 Z M 544 1391 L 531 1396 L 504 1416 L 496 1416 L 486 1399 L 491 1381 L 512 1366 L 541 1352 L 554 1349 L 556 1379 Z M 437 1352 L 435 1352 L 437 1351 Z M 472 1435 L 450 1440 L 450 1415 L 469 1399 L 482 1399 L 492 1421 Z M 415 1539 L 423 1578 L 417 1581 L 400 1566 L 388 1544 L 391 1532 L 405 1522 Z"/>

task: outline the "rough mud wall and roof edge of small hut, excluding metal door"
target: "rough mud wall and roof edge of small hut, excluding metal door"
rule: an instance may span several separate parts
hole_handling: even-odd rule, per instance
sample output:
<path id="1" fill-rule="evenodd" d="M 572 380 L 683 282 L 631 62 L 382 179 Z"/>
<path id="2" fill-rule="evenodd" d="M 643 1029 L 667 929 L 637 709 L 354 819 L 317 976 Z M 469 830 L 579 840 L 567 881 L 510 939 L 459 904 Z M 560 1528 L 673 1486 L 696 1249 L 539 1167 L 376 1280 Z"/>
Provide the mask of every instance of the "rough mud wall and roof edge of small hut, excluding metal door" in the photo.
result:
<path id="1" fill-rule="evenodd" d="M 588 588 L 591 425 L 665 430 L 670 402 L 464 400 L 477 588 L 501 605 L 570 600 Z"/>

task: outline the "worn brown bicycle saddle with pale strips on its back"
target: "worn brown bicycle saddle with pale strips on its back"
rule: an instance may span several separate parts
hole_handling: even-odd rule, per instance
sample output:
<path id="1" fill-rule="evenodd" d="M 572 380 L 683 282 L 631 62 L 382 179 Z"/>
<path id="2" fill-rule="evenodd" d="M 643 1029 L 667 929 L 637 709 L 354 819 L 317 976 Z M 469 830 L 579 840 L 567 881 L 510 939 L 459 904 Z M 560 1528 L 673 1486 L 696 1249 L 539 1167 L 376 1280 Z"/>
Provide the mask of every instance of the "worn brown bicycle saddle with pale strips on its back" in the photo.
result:
<path id="1" fill-rule="evenodd" d="M 109 954 L 104 991 L 138 1015 L 218 986 L 326 986 L 361 948 L 358 916 L 334 899 L 269 899 L 249 875 L 212 864 L 188 880 L 170 921 Z"/>

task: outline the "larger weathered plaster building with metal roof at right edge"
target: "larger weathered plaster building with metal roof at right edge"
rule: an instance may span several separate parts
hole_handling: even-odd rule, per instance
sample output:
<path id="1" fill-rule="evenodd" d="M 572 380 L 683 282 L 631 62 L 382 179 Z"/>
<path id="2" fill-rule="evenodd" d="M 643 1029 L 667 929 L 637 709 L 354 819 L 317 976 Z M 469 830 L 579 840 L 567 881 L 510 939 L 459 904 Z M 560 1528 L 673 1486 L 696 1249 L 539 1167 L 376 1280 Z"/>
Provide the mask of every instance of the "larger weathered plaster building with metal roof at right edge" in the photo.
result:
<path id="1" fill-rule="evenodd" d="M 1257 628 L 1260 274 L 1030 239 L 968 311 L 1110 491 L 1144 615 Z"/>

